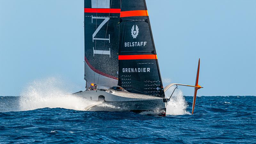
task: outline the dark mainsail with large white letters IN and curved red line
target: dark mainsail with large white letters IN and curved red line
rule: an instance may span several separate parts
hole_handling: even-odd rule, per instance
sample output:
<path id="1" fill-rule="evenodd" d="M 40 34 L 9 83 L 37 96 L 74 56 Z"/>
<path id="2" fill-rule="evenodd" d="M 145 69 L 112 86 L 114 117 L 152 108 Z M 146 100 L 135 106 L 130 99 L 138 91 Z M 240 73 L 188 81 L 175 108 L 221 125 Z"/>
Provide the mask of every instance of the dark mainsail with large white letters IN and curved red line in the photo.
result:
<path id="1" fill-rule="evenodd" d="M 120 0 L 84 0 L 86 88 L 117 86 L 120 6 Z"/>

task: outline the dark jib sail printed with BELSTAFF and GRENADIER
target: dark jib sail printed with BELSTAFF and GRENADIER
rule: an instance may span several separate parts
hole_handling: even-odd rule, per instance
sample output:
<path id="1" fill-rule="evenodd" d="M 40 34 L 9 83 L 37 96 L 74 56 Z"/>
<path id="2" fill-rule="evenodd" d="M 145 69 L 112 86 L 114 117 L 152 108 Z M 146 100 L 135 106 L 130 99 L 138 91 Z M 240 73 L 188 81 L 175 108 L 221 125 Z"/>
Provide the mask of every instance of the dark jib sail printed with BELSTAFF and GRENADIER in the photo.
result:
<path id="1" fill-rule="evenodd" d="M 164 98 L 145 0 L 122 0 L 119 28 L 118 85 Z"/>

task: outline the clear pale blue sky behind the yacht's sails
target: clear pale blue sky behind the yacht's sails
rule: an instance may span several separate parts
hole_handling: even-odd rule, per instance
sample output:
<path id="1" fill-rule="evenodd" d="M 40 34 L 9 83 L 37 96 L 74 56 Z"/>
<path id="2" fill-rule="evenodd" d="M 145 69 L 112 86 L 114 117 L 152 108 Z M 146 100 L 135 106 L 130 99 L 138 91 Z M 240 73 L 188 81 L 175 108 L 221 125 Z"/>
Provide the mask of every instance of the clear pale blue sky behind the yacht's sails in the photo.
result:
<path id="1" fill-rule="evenodd" d="M 198 95 L 256 95 L 255 0 L 146 2 L 165 85 L 195 84 L 200 58 Z M 83 16 L 82 0 L 0 0 L 0 95 L 52 76 L 84 90 Z"/>

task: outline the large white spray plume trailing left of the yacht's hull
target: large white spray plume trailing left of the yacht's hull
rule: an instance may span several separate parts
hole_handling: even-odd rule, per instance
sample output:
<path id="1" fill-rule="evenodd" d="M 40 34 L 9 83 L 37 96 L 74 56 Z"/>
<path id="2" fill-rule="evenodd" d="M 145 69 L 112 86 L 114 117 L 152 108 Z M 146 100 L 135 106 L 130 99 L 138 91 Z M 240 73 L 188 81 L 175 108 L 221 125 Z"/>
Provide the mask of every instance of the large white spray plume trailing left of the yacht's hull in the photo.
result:
<path id="1" fill-rule="evenodd" d="M 84 110 L 92 101 L 76 97 L 64 88 L 64 84 L 55 77 L 36 80 L 21 92 L 20 110 L 37 108 L 67 108 Z"/>

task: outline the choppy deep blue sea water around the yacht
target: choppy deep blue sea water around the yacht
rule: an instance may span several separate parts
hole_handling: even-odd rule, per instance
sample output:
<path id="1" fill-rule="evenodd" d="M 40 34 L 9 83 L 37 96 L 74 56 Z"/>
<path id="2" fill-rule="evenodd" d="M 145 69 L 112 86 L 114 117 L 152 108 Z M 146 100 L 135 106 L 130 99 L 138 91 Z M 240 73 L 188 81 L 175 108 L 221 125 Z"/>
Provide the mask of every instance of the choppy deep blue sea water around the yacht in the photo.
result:
<path id="1" fill-rule="evenodd" d="M 56 101 L 64 108 L 41 108 L 54 99 L 0 97 L 0 143 L 256 143 L 255 96 L 197 97 L 194 115 L 185 97 L 165 117 L 74 110 L 80 100 L 67 97 Z"/>

